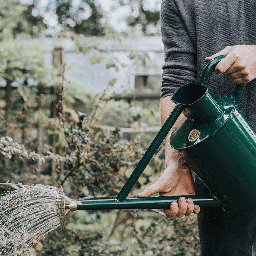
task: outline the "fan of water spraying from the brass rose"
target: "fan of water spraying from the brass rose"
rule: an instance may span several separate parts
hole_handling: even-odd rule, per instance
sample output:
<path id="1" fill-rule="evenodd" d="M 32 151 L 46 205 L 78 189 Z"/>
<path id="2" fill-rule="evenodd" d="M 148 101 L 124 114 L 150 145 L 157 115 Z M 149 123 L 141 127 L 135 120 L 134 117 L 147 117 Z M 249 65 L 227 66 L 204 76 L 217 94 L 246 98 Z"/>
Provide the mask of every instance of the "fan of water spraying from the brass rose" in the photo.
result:
<path id="1" fill-rule="evenodd" d="M 62 189 L 37 184 L 5 192 L 0 197 L 0 255 L 28 253 L 34 243 L 63 224 Z"/>

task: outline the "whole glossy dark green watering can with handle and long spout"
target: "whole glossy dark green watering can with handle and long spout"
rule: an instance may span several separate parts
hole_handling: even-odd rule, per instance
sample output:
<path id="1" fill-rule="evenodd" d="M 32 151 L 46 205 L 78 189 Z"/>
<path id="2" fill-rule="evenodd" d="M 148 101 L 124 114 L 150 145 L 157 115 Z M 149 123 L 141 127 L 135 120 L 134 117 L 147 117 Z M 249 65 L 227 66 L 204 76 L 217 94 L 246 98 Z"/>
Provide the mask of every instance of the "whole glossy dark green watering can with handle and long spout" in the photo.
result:
<path id="1" fill-rule="evenodd" d="M 208 62 L 198 83 L 181 86 L 172 96 L 176 103 L 166 122 L 115 199 L 71 201 L 65 209 L 170 208 L 179 196 L 126 198 L 183 110 L 186 116 L 170 137 L 170 145 L 211 191 L 206 195 L 184 195 L 200 207 L 222 206 L 230 213 L 256 210 L 256 132 L 239 109 L 244 84 L 234 95 L 213 97 L 207 87 L 211 73 L 225 56 Z M 221 85 L 220 85 L 221 86 Z"/>

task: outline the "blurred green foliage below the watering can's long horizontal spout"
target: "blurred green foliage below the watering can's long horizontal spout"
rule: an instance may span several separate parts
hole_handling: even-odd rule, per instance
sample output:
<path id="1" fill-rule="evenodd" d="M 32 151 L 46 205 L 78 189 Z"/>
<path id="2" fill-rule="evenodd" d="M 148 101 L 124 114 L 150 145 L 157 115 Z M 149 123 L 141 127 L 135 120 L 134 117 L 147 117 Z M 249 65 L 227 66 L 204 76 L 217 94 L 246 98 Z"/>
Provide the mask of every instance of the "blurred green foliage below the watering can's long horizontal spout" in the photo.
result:
<path id="1" fill-rule="evenodd" d="M 168 220 L 150 210 L 75 212 L 37 255 L 199 256 L 196 221 L 195 215 Z"/>

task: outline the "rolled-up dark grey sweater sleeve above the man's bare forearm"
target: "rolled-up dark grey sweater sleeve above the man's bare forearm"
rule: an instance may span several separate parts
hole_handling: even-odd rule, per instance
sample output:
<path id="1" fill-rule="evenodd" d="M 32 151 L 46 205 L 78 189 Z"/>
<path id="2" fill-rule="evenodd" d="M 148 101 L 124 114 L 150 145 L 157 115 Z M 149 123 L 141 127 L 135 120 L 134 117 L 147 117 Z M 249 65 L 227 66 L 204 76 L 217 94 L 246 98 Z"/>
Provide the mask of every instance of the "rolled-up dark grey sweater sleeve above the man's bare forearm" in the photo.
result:
<path id="1" fill-rule="evenodd" d="M 185 83 L 196 82 L 196 49 L 174 0 L 161 5 L 164 58 L 161 97 L 172 95 Z M 190 28 L 191 29 L 191 28 Z"/>

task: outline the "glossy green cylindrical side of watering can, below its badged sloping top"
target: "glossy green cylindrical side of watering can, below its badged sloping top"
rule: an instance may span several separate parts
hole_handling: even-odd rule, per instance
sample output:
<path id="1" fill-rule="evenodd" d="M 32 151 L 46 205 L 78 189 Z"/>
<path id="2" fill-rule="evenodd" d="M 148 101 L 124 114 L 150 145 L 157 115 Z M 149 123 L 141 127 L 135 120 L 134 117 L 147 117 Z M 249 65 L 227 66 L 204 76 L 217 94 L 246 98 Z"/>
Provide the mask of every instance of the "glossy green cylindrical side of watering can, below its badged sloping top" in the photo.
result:
<path id="1" fill-rule="evenodd" d="M 256 208 L 256 133 L 238 108 L 213 136 L 181 154 L 225 211 Z"/>

